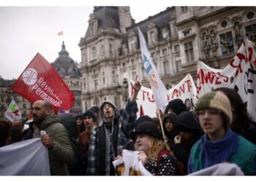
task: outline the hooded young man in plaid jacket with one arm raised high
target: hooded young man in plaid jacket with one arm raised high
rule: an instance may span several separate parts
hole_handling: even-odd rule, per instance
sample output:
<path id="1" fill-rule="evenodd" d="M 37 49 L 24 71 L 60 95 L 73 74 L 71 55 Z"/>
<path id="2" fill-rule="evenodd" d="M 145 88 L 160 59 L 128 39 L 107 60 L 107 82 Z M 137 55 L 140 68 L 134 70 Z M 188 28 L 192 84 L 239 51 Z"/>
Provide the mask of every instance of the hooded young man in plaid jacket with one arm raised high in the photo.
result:
<path id="1" fill-rule="evenodd" d="M 141 82 L 136 76 L 134 92 L 124 106 L 122 116 L 111 101 L 106 100 L 99 107 L 98 126 L 91 133 L 87 175 L 116 175 L 113 160 L 121 154 L 129 141 L 129 132 L 134 128 L 138 106 L 136 97 Z"/>

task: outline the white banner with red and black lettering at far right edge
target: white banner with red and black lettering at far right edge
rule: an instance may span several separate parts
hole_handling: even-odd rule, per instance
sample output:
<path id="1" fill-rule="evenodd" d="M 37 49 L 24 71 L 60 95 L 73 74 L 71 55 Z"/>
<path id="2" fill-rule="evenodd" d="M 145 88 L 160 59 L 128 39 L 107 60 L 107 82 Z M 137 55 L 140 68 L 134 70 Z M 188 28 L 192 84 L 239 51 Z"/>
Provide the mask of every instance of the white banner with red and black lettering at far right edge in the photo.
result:
<path id="1" fill-rule="evenodd" d="M 238 90 L 247 110 L 256 121 L 256 52 L 252 41 L 246 40 L 236 56 L 223 69 L 197 63 L 197 97 L 218 87 Z"/>

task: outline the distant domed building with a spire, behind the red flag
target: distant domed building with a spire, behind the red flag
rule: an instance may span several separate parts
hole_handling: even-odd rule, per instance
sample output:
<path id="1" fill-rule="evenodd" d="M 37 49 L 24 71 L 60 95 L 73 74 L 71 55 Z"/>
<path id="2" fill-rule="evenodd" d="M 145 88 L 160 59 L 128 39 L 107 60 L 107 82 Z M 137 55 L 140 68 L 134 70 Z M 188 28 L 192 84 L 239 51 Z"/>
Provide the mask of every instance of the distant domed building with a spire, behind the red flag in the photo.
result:
<path id="1" fill-rule="evenodd" d="M 56 71 L 75 95 L 74 106 L 69 109 L 69 112 L 73 114 L 81 113 L 81 74 L 78 63 L 75 63 L 75 61 L 69 57 L 69 52 L 66 50 L 64 41 L 62 42 L 59 57 L 51 64 L 56 68 Z"/>

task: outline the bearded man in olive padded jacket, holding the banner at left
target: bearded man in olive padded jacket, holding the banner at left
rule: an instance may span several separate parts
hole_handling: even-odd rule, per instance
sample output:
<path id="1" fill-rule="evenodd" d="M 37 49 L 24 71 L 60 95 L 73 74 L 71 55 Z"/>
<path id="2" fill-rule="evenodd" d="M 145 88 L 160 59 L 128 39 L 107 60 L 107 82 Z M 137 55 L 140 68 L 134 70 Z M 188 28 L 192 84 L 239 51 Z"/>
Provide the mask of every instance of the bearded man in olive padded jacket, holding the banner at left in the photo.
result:
<path id="1" fill-rule="evenodd" d="M 75 162 L 75 154 L 67 130 L 48 101 L 33 103 L 33 119 L 37 124 L 33 138 L 41 138 L 42 144 L 48 148 L 50 175 L 69 175 L 67 164 Z M 46 135 L 40 135 L 42 130 Z"/>

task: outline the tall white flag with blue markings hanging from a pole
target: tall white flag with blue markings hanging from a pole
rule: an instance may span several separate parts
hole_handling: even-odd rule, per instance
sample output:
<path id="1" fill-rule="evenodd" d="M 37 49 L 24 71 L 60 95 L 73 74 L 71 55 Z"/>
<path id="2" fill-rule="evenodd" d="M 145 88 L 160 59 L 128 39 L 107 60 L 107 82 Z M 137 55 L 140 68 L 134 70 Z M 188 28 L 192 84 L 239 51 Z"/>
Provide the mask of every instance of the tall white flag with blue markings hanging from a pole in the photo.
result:
<path id="1" fill-rule="evenodd" d="M 148 44 L 146 43 L 144 36 L 140 31 L 140 28 L 138 28 L 138 33 L 140 37 L 140 51 L 143 60 L 143 66 L 146 70 L 151 89 L 154 93 L 157 108 L 159 108 L 164 113 L 165 108 L 168 104 L 168 92 L 165 88 L 165 85 L 162 83 L 162 80 L 159 78 L 159 75 L 157 74 L 157 70 L 154 66 L 151 53 L 148 50 Z"/>

